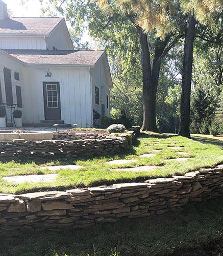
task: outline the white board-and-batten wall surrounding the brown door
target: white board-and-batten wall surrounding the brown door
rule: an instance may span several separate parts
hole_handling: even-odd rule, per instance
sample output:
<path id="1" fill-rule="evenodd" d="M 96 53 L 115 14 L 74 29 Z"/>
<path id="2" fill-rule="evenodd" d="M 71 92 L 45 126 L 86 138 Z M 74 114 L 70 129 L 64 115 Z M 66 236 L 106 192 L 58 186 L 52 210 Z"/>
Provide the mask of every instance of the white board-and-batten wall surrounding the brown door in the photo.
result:
<path id="1" fill-rule="evenodd" d="M 45 77 L 47 68 L 27 67 L 23 93 L 26 123 L 39 123 L 45 119 L 43 82 L 60 83 L 61 119 L 79 127 L 92 125 L 90 73 L 88 68 L 51 67 L 52 77 Z"/>

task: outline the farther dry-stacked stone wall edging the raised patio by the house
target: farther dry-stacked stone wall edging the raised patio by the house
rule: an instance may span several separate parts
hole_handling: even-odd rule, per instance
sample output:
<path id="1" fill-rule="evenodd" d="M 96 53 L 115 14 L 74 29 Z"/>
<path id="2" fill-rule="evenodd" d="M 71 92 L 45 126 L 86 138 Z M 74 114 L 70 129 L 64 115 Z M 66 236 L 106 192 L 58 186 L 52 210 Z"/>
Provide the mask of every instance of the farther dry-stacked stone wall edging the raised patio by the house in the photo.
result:
<path id="1" fill-rule="evenodd" d="M 47 157 L 47 156 L 86 156 L 120 153 L 132 148 L 133 133 L 119 136 L 106 135 L 105 137 L 78 140 L 63 138 L 63 140 L 32 141 L 15 139 L 12 142 L 0 142 L 0 157 Z M 60 137 L 58 135 L 58 137 Z"/>

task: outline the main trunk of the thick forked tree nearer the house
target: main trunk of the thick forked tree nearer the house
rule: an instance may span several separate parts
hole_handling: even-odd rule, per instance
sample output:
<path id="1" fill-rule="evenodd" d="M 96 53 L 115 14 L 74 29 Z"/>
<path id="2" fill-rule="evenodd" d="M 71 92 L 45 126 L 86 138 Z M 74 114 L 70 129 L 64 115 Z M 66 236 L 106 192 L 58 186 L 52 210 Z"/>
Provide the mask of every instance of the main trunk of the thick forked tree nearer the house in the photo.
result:
<path id="1" fill-rule="evenodd" d="M 143 123 L 142 131 L 159 132 L 156 124 L 156 91 L 151 71 L 150 51 L 148 49 L 147 35 L 138 27 L 141 44 L 141 65 L 143 82 Z M 157 83 L 158 84 L 158 83 Z"/>

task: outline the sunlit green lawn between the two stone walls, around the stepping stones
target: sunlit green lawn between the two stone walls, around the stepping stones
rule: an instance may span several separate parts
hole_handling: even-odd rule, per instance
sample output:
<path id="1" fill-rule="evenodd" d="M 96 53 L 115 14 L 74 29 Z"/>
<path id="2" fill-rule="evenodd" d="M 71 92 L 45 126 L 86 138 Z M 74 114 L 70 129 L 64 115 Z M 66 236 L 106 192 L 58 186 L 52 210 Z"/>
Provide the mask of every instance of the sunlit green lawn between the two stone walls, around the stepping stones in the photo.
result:
<path id="1" fill-rule="evenodd" d="M 118 182 L 144 181 L 147 178 L 169 177 L 184 174 L 201 167 L 211 167 L 223 162 L 222 138 L 194 135 L 193 140 L 174 135 L 142 133 L 131 152 L 126 154 L 101 156 L 95 158 L 69 159 L 36 159 L 27 161 L 2 161 L 0 164 L 0 193 L 25 193 L 48 188 L 65 189 Z M 179 148 L 172 148 L 179 147 Z M 186 154 L 182 155 L 184 152 Z M 139 157 L 144 153 L 153 153 L 154 157 Z M 188 158 L 186 161 L 166 161 L 166 159 Z M 114 159 L 135 159 L 137 162 L 123 165 L 109 165 L 106 162 Z M 43 165 L 79 164 L 79 170 L 46 170 Z M 149 172 L 114 172 L 112 168 L 133 167 L 142 165 L 157 166 Z M 2 179 L 5 176 L 57 173 L 55 182 L 36 182 L 14 184 Z"/>

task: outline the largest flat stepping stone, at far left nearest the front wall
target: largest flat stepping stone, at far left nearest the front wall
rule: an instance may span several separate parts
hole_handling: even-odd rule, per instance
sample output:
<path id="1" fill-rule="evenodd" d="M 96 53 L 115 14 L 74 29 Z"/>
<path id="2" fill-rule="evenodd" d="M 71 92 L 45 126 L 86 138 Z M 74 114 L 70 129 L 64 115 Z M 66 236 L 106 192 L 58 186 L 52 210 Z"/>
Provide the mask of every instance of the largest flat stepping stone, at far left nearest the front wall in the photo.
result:
<path id="1" fill-rule="evenodd" d="M 13 182 L 15 184 L 20 184 L 23 182 L 53 182 L 56 180 L 58 174 L 44 174 L 44 175 L 20 175 L 20 176 L 11 176 L 3 177 L 3 180 L 8 182 Z"/>

